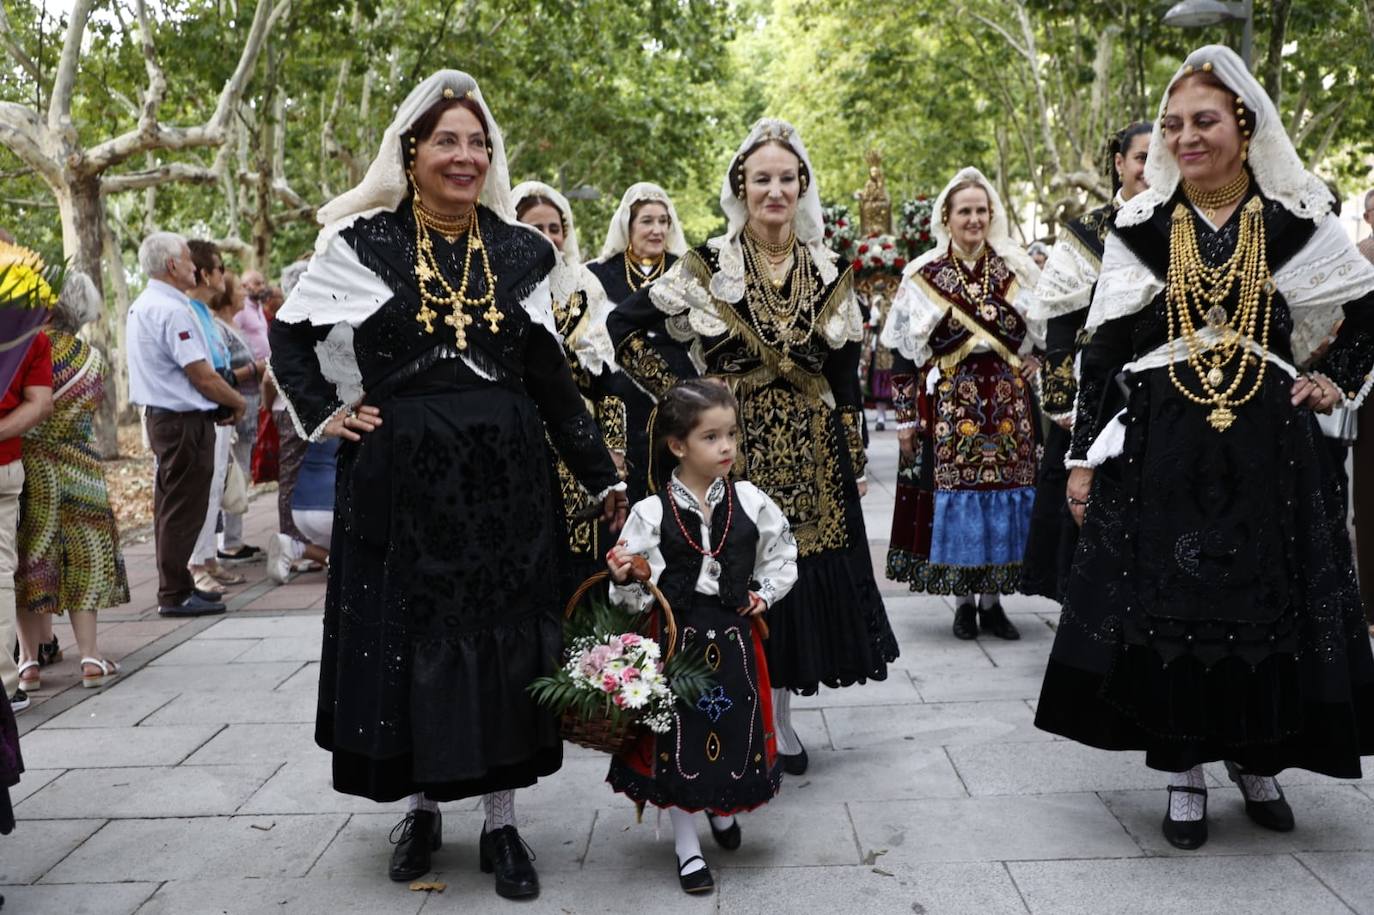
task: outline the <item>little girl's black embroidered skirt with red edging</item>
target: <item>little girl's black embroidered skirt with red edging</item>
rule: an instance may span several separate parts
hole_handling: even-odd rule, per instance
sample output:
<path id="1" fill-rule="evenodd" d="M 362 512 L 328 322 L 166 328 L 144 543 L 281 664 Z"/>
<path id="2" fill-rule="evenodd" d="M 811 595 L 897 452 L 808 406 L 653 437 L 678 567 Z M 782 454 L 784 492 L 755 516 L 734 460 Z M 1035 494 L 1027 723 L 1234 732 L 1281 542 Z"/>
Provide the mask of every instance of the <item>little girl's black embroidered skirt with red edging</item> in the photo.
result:
<path id="1" fill-rule="evenodd" d="M 676 609 L 677 651 L 714 669 L 694 706 L 679 702 L 668 734 L 647 732 L 611 758 L 606 782 L 631 800 L 684 811 L 739 813 L 778 794 L 782 764 L 772 732 L 768 665 L 747 617 L 694 595 Z"/>

